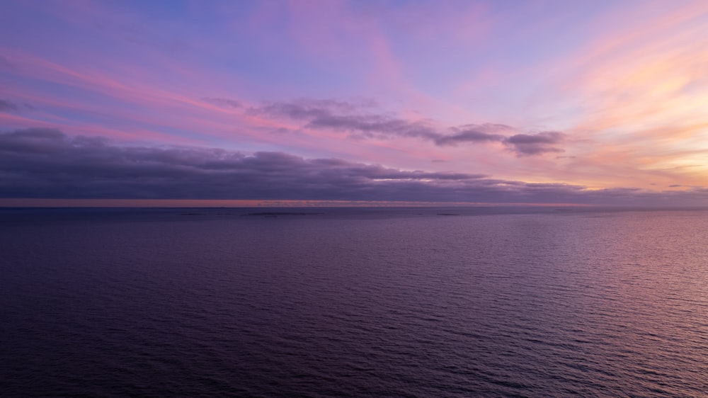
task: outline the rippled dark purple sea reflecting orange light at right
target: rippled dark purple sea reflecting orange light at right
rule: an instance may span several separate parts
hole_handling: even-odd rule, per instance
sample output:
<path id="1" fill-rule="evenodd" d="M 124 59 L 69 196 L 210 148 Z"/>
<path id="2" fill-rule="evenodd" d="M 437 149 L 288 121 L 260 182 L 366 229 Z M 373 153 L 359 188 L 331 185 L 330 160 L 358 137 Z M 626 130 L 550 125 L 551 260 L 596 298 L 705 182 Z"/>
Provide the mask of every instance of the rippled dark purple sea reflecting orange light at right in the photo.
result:
<path id="1" fill-rule="evenodd" d="M 708 391 L 707 211 L 249 211 L 0 210 L 0 395 Z"/>

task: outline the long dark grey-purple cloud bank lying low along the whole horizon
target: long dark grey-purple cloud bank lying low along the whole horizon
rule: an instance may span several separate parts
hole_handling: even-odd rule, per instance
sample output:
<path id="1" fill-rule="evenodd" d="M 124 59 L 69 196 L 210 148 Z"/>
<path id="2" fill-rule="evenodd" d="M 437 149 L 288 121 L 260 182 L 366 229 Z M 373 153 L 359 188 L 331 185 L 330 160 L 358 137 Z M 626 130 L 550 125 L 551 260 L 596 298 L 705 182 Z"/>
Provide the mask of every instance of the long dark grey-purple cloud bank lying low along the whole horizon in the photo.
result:
<path id="1" fill-rule="evenodd" d="M 406 171 L 282 152 L 137 147 L 59 130 L 0 133 L 0 198 L 403 200 L 708 205 L 708 190 L 599 191 L 481 174 Z"/>

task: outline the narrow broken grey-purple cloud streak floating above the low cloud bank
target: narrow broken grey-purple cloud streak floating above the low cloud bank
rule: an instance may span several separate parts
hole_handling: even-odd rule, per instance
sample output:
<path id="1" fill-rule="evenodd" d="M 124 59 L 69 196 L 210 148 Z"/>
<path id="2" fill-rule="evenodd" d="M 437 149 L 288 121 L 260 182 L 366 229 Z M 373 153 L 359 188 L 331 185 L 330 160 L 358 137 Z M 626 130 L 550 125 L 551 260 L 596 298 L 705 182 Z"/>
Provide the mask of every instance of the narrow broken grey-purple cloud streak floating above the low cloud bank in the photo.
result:
<path id="1" fill-rule="evenodd" d="M 561 132 L 518 134 L 513 127 L 495 123 L 462 125 L 441 132 L 440 127 L 430 120 L 404 120 L 394 115 L 367 112 L 366 108 L 370 108 L 370 104 L 360 106 L 346 101 L 299 99 L 265 103 L 249 111 L 302 120 L 306 123 L 304 127 L 339 130 L 355 138 L 415 137 L 430 140 L 439 146 L 501 142 L 517 156 L 563 152 L 557 147 L 564 138 Z"/>

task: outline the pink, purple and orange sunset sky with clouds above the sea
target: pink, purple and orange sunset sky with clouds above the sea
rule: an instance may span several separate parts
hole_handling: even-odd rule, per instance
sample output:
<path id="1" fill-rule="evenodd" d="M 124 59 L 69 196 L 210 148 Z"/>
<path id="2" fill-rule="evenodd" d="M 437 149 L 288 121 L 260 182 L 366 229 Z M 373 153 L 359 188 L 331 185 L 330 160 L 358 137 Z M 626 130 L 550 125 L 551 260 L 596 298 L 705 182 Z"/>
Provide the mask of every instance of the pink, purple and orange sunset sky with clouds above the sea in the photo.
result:
<path id="1" fill-rule="evenodd" d="M 0 205 L 704 206 L 706 110 L 703 0 L 0 2 Z"/>

